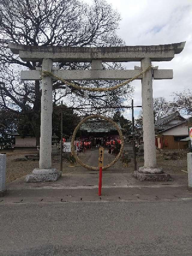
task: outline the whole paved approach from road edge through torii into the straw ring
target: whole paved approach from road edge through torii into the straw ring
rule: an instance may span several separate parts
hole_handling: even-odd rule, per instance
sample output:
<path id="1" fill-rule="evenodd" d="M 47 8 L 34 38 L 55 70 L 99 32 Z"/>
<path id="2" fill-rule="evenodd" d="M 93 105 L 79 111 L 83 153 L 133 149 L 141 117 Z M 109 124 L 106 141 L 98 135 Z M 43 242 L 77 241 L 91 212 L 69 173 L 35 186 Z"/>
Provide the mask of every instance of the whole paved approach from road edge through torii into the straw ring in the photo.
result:
<path id="1" fill-rule="evenodd" d="M 88 165 L 98 165 L 98 150 L 89 151 L 86 156 Z M 114 156 L 105 151 L 108 164 Z M 133 176 L 133 171 L 122 167 L 118 161 L 113 167 L 103 171 L 102 196 L 98 197 L 98 171 L 86 170 L 81 166 L 71 167 L 71 173 L 62 174 L 56 182 L 26 183 L 25 177 L 7 183 L 7 193 L 0 203 L 46 203 L 64 201 L 100 200 L 185 200 L 192 198 L 187 187 L 187 174 L 172 175 L 171 182 L 141 182 Z"/>

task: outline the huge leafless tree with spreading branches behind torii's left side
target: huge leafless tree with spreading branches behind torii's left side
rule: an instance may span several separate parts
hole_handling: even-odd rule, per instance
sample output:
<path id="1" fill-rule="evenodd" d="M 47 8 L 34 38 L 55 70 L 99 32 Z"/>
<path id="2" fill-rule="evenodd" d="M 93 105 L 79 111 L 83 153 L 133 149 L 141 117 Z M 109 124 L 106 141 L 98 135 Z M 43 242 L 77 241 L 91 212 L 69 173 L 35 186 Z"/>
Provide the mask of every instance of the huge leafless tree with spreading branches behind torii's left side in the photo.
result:
<path id="1" fill-rule="evenodd" d="M 0 62 L 1 62 L 1 99 L 3 109 L 23 111 L 31 121 L 32 129 L 39 144 L 41 82 L 21 82 L 18 70 L 40 67 L 41 62 L 23 62 L 11 53 L 7 43 L 42 46 L 120 46 L 124 42 L 116 35 L 120 16 L 105 0 L 95 0 L 92 5 L 78 0 L 2 0 L 0 3 Z M 60 63 L 62 69 L 90 68 L 89 63 Z M 111 66 L 109 66 L 111 65 Z M 122 68 L 114 63 L 104 64 L 105 68 Z M 105 82 L 106 84 L 107 82 Z M 110 81 L 111 86 L 115 81 Z M 82 84 L 82 82 L 79 82 Z M 104 86 L 102 82 L 88 83 L 89 86 Z M 61 82 L 53 85 L 53 102 L 65 95 Z M 125 88 L 132 92 L 130 86 Z M 108 105 L 122 102 L 116 93 L 111 100 L 104 94 L 90 93 L 85 101 L 83 92 L 71 88 L 66 102 L 76 106 L 97 104 Z M 80 100 L 76 101 L 79 97 Z M 98 103 L 99 102 L 99 103 Z M 32 110 L 30 112 L 30 110 Z"/>

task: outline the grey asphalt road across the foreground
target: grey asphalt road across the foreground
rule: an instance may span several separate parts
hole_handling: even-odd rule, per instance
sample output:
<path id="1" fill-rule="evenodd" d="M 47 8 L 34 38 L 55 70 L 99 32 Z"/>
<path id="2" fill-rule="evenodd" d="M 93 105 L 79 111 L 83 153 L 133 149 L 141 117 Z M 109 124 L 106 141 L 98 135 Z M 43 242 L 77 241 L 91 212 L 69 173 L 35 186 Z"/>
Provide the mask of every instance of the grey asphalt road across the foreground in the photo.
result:
<path id="1" fill-rule="evenodd" d="M 0 255 L 192 255 L 192 200 L 0 205 Z"/>

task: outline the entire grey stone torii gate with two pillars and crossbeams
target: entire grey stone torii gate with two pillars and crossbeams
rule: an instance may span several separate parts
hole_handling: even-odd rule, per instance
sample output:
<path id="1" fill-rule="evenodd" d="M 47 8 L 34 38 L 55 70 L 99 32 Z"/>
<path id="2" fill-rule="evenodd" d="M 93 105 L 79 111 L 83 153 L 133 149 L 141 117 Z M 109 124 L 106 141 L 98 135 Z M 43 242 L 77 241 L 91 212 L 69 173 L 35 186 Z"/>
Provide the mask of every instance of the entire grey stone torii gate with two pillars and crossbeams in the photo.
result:
<path id="1" fill-rule="evenodd" d="M 42 62 L 42 70 L 51 71 L 64 80 L 128 80 L 145 71 L 152 61 L 170 61 L 175 54 L 181 53 L 185 42 L 176 44 L 124 47 L 57 47 L 27 46 L 9 43 L 14 54 L 23 61 Z M 102 62 L 141 62 L 134 70 L 103 70 Z M 92 62 L 91 70 L 59 70 L 53 62 Z M 142 76 L 143 141 L 144 167 L 135 173 L 140 179 L 143 175 L 161 174 L 156 168 L 155 129 L 153 115 L 152 79 L 172 79 L 173 70 L 150 68 Z M 21 71 L 22 80 L 40 80 L 40 69 Z M 54 78 L 55 80 L 55 78 Z M 51 168 L 52 137 L 52 77 L 42 76 L 41 96 L 41 141 L 39 169 L 34 169 L 26 181 L 54 181 L 60 173 Z"/>

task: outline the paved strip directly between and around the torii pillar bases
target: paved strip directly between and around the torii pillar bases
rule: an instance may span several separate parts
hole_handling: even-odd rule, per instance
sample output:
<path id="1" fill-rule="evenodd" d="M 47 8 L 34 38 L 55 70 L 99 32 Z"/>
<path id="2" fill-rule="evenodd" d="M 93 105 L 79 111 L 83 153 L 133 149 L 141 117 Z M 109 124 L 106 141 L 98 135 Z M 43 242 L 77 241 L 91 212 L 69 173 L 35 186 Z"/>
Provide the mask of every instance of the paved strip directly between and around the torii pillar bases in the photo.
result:
<path id="1" fill-rule="evenodd" d="M 42 187 L 75 187 L 75 186 L 98 186 L 98 173 L 96 174 L 62 174 L 62 177 L 55 182 L 25 182 L 25 177 L 6 184 L 7 189 L 13 188 L 42 188 Z M 103 173 L 103 186 L 130 186 L 130 185 L 185 185 L 187 176 L 173 176 L 172 182 L 141 182 L 134 178 L 133 173 Z"/>

